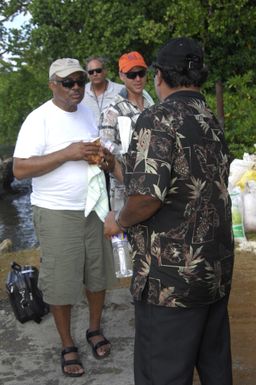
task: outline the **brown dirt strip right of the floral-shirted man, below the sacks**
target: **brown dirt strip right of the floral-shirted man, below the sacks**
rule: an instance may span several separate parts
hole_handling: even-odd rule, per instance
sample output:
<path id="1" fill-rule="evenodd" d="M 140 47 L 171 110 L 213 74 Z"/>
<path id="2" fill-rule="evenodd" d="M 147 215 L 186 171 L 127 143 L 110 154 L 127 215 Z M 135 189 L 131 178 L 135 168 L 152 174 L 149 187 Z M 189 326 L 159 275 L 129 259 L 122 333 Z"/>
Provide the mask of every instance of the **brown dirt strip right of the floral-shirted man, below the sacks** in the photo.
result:
<path id="1" fill-rule="evenodd" d="M 237 252 L 229 314 L 234 385 L 256 384 L 256 254 Z"/>

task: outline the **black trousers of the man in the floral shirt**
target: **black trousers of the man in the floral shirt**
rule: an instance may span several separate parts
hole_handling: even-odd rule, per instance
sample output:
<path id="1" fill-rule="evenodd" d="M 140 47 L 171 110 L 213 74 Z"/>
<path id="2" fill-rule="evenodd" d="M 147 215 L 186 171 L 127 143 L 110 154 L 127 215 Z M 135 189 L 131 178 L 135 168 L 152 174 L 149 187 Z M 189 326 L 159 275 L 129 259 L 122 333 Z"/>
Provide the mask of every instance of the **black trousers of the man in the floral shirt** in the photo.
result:
<path id="1" fill-rule="evenodd" d="M 232 385 L 228 296 L 192 309 L 135 303 L 135 385 Z"/>

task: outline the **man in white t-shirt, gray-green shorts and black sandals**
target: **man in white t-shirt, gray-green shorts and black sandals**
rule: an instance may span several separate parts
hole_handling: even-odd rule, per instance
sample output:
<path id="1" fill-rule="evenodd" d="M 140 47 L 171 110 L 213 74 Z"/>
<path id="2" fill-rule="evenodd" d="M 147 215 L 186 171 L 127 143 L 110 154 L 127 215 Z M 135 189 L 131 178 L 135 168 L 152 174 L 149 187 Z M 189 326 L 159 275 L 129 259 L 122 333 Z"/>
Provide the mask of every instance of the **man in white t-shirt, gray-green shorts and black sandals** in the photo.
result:
<path id="1" fill-rule="evenodd" d="M 39 285 L 61 338 L 63 373 L 73 377 L 81 376 L 84 369 L 71 336 L 72 305 L 82 298 L 85 286 L 90 313 L 86 338 L 96 358 L 106 357 L 110 342 L 100 323 L 105 290 L 114 279 L 112 246 L 103 236 L 102 207 L 89 197 L 88 175 L 93 171 L 104 180 L 95 163 L 106 169 L 108 163 L 107 154 L 93 142 L 99 136 L 95 119 L 80 104 L 85 81 L 78 60 L 52 63 L 53 98 L 22 124 L 13 166 L 16 178 L 32 177 L 31 204 L 41 251 Z M 102 186 L 99 197 L 105 194 L 107 202 Z"/>

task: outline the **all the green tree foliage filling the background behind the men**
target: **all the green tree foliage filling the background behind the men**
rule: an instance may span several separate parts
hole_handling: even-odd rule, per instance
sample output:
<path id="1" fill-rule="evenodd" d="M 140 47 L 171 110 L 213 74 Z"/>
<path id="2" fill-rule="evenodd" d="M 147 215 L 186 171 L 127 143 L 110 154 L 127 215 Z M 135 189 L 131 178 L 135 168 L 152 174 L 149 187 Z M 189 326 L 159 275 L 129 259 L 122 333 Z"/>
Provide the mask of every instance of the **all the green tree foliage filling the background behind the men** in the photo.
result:
<path id="1" fill-rule="evenodd" d="M 29 12 L 21 30 L 4 19 Z M 253 0 L 10 0 L 0 4 L 0 142 L 15 141 L 25 116 L 49 98 L 47 74 L 59 57 L 109 59 L 118 81 L 118 58 L 137 50 L 147 63 L 171 37 L 191 36 L 205 47 L 209 81 L 204 92 L 216 109 L 215 83 L 224 84 L 225 132 L 231 152 L 253 151 L 255 139 L 256 4 Z M 147 90 L 156 100 L 152 75 Z"/>

